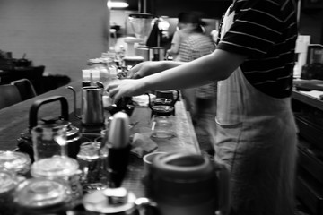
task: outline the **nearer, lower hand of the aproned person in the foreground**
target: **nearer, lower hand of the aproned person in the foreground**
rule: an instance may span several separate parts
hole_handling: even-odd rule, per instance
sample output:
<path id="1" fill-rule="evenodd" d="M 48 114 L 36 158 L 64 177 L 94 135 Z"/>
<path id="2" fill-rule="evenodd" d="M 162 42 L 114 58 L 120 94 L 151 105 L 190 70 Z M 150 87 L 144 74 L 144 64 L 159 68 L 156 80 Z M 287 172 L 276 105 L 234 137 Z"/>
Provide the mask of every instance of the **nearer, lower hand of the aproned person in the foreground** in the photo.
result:
<path id="1" fill-rule="evenodd" d="M 132 97 L 144 94 L 144 82 L 141 79 L 123 79 L 108 85 L 109 97 L 112 103 L 117 103 L 122 97 Z"/>

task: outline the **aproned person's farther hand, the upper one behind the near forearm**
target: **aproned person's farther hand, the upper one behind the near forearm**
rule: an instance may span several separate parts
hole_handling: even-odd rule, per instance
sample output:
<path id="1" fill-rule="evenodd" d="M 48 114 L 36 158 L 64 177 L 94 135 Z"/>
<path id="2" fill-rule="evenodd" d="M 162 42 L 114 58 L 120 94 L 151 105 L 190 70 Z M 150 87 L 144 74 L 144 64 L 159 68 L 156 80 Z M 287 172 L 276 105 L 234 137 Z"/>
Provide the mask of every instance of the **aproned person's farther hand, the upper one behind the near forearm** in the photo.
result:
<path id="1" fill-rule="evenodd" d="M 164 70 L 162 61 L 145 61 L 136 64 L 128 73 L 127 78 L 139 79 Z"/>

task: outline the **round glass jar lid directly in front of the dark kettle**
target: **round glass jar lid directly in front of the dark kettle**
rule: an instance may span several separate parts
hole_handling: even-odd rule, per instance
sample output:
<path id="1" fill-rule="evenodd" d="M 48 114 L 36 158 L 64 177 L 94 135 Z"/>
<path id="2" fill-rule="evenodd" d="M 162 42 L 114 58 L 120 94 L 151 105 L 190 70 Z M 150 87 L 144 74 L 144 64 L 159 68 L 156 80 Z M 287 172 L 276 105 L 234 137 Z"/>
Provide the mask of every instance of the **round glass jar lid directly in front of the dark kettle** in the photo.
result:
<path id="1" fill-rule="evenodd" d="M 57 178 L 73 176 L 79 165 L 75 159 L 62 156 L 53 156 L 48 159 L 39 159 L 31 165 L 31 176 Z"/>

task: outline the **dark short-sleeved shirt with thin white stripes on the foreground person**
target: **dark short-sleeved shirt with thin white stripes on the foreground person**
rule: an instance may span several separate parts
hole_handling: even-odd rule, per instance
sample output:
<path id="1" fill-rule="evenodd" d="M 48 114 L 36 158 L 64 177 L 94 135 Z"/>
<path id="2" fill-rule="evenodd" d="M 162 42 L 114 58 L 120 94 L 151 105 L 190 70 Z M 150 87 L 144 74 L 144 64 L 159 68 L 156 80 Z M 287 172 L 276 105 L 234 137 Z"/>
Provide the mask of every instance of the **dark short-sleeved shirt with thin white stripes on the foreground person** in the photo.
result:
<path id="1" fill-rule="evenodd" d="M 234 22 L 217 48 L 248 56 L 240 65 L 246 79 L 275 98 L 292 93 L 297 14 L 293 0 L 238 0 Z"/>

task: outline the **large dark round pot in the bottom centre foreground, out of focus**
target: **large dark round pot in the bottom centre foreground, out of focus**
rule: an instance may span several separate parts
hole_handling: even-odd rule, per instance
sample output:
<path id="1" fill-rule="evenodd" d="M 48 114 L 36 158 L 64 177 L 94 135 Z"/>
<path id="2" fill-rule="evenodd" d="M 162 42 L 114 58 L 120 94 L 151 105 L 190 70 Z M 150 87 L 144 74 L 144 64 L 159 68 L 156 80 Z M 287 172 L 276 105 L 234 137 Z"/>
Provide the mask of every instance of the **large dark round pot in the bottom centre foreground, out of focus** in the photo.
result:
<path id="1" fill-rule="evenodd" d="M 162 153 L 143 179 L 145 195 L 161 215 L 212 215 L 229 211 L 229 172 L 190 153 Z"/>

